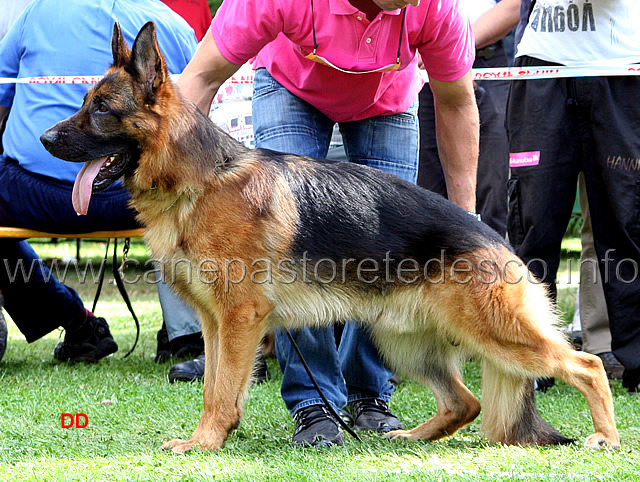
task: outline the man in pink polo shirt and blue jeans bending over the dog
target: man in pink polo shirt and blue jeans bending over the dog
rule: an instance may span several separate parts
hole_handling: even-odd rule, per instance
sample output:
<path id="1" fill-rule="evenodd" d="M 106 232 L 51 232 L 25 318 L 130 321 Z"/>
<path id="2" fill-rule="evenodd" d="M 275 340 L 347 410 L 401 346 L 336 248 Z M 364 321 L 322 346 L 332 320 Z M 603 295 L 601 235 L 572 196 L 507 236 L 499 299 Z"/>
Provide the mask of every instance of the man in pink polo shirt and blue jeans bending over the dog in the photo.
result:
<path id="1" fill-rule="evenodd" d="M 256 146 L 325 157 L 335 123 L 351 162 L 416 181 L 417 70 L 422 56 L 437 115 L 449 199 L 475 210 L 478 112 L 470 69 L 475 46 L 459 0 L 225 0 L 178 85 L 208 113 L 220 85 L 253 59 Z M 369 336 L 347 323 L 294 333 L 336 410 L 350 404 L 356 429 L 402 424 L 389 411 L 391 372 Z M 288 339 L 276 333 L 282 396 L 298 445 L 341 444 Z M 189 363 L 189 362 L 187 362 Z M 430 367 L 425 367 L 428 379 Z"/>

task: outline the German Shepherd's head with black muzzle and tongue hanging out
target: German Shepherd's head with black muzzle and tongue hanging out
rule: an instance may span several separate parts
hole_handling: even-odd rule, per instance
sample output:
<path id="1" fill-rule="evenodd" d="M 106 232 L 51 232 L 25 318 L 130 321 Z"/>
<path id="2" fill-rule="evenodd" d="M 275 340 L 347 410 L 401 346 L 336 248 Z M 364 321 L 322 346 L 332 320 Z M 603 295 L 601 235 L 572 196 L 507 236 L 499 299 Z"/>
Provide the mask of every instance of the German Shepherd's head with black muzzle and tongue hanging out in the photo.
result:
<path id="1" fill-rule="evenodd" d="M 132 49 L 116 22 L 111 48 L 113 65 L 80 110 L 40 137 L 54 156 L 85 163 L 73 187 L 78 214 L 87 213 L 92 192 L 131 174 L 141 153 L 153 150 L 162 129 L 163 89 L 171 89 L 153 22 L 142 27 Z"/>

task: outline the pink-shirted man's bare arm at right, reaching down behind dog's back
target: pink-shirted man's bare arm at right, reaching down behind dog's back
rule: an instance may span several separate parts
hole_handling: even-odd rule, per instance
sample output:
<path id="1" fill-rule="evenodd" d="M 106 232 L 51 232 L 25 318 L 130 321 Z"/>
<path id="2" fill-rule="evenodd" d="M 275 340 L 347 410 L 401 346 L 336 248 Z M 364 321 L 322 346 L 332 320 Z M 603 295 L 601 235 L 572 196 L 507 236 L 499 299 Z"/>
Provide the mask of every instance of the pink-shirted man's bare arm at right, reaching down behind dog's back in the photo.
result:
<path id="1" fill-rule="evenodd" d="M 430 79 L 436 109 L 436 137 L 449 200 L 476 211 L 480 121 L 471 71 L 453 82 Z"/>

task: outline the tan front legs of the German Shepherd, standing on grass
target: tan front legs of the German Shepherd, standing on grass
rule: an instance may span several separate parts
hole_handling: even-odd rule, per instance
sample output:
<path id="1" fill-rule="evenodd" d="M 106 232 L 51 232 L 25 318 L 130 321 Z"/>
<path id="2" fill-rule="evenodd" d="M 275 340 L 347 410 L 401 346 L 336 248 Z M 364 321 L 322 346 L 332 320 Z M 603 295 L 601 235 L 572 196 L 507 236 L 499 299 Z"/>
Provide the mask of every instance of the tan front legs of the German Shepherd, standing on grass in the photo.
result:
<path id="1" fill-rule="evenodd" d="M 264 318 L 268 311 L 257 303 L 236 306 L 221 317 L 217 330 L 217 363 L 215 343 L 204 328 L 205 373 L 204 412 L 189 440 L 174 439 L 164 449 L 186 452 L 193 448 L 217 450 L 242 416 L 253 362 L 264 334 Z"/>

